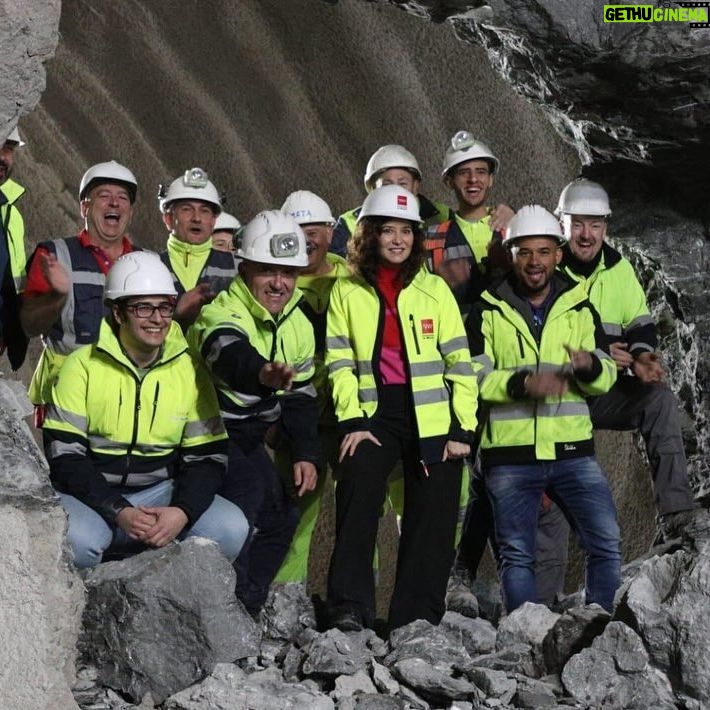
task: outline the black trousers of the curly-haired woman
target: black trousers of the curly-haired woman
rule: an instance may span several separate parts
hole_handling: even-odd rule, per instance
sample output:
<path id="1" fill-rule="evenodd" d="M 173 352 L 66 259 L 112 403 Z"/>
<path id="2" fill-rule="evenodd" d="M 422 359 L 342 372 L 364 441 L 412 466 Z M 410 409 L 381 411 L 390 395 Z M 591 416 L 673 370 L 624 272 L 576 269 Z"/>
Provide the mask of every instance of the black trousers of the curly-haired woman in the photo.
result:
<path id="1" fill-rule="evenodd" d="M 360 614 L 366 625 L 374 621 L 372 557 L 387 477 L 401 459 L 404 511 L 389 626 L 394 629 L 415 619 L 438 624 L 446 610 L 446 583 L 454 557 L 461 461 L 430 463 L 427 475 L 419 459 L 408 388 L 383 389 L 370 426 L 381 446 L 361 442 L 343 461 L 336 485 L 328 601 Z"/>

